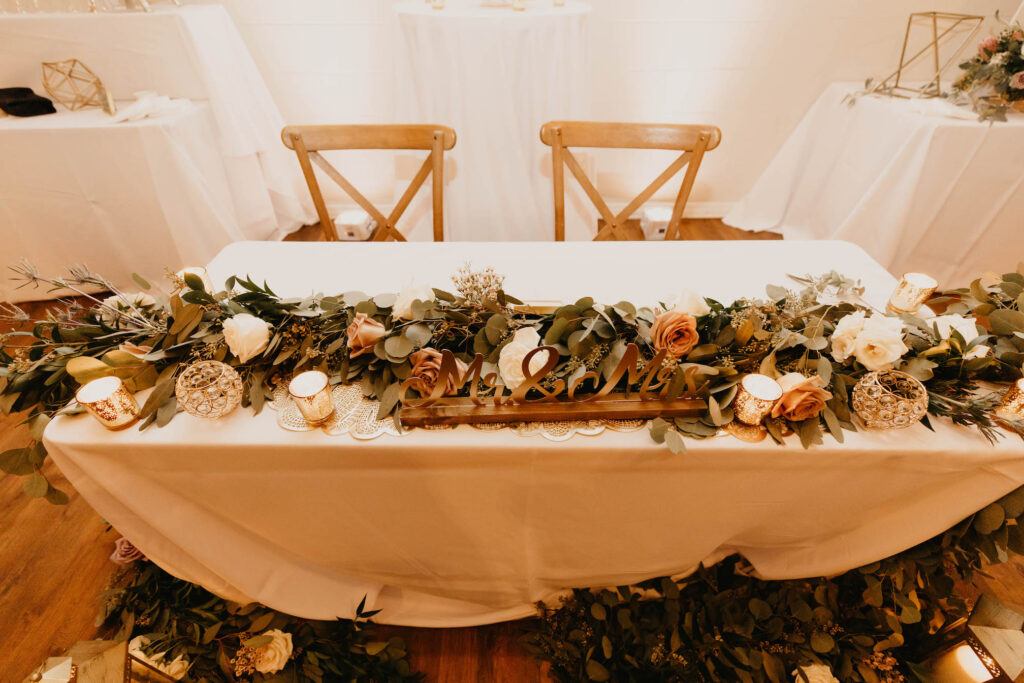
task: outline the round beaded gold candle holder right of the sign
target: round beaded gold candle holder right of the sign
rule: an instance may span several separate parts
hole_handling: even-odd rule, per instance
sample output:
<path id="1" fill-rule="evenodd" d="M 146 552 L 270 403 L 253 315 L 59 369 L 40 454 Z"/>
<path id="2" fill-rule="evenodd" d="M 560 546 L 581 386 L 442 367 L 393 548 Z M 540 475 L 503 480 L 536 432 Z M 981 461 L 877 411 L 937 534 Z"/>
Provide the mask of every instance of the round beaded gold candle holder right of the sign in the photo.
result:
<path id="1" fill-rule="evenodd" d="M 860 378 L 850 403 L 868 427 L 902 429 L 925 417 L 928 389 L 906 373 L 883 370 Z"/>

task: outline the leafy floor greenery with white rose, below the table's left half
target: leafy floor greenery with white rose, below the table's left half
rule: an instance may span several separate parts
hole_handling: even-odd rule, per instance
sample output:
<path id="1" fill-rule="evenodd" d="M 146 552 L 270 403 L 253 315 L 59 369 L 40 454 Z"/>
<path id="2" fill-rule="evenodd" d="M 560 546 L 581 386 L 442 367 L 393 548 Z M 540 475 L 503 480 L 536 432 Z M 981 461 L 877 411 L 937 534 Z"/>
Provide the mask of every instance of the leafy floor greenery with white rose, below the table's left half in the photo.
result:
<path id="1" fill-rule="evenodd" d="M 143 636 L 146 654 L 165 653 L 158 665 L 181 656 L 187 661 L 183 681 L 422 680 L 406 659 L 400 638 L 374 639 L 374 625 L 366 618 L 376 612 L 355 621 L 297 618 L 228 602 L 151 562 L 134 562 L 117 584 L 101 596 L 100 621 L 117 629 L 118 640 Z M 281 635 L 290 636 L 285 649 Z M 278 666 L 280 671 L 260 671 Z"/>

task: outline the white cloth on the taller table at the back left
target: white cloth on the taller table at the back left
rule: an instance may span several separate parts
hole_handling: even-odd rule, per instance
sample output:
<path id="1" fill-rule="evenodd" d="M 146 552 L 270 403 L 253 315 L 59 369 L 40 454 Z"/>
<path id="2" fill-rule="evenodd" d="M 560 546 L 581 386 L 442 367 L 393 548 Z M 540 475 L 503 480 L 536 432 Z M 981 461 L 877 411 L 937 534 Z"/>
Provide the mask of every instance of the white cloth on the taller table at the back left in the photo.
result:
<path id="1" fill-rule="evenodd" d="M 284 120 L 223 6 L 0 14 L 0 84 L 45 95 L 40 62 L 71 57 L 116 99 L 155 90 L 209 100 L 247 239 L 282 237 L 314 220 L 295 156 L 281 143 Z"/>

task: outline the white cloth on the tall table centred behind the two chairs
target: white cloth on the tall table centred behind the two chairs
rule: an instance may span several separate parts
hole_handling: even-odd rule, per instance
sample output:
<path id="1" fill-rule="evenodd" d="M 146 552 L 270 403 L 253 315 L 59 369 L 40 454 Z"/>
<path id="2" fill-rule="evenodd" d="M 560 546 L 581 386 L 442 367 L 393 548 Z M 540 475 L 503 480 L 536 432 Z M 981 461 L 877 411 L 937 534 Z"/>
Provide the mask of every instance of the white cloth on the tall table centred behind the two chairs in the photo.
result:
<path id="1" fill-rule="evenodd" d="M 445 239 L 552 240 L 551 154 L 541 125 L 590 112 L 590 6 L 549 0 L 524 11 L 450 0 L 395 5 L 396 116 L 455 128 Z M 566 237 L 591 239 L 595 212 L 566 181 Z M 410 234 L 430 239 L 429 212 Z"/>

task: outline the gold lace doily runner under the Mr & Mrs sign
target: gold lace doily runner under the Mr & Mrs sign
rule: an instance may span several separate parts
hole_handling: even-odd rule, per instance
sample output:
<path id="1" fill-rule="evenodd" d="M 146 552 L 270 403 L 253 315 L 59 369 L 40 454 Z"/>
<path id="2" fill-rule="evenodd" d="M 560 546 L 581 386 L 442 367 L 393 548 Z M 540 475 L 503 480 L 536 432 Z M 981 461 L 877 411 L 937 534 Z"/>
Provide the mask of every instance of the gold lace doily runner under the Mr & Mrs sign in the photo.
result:
<path id="1" fill-rule="evenodd" d="M 335 386 L 331 391 L 331 399 L 334 401 L 334 416 L 327 423 L 316 427 L 310 426 L 305 421 L 291 396 L 288 395 L 288 389 L 284 386 L 274 390 L 270 408 L 276 411 L 278 424 L 289 431 L 304 432 L 323 429 L 331 435 L 348 434 L 357 439 L 377 438 L 384 434 L 401 436 L 410 431 L 409 428 L 406 428 L 399 432 L 394 426 L 394 421 L 390 418 L 378 420 L 377 410 L 380 403 L 364 396 L 362 390 L 356 384 Z M 646 424 L 646 420 L 580 420 L 474 424 L 473 427 L 480 431 L 510 429 L 519 436 L 543 436 L 549 441 L 566 441 L 577 435 L 596 436 L 605 429 L 618 432 L 638 431 L 643 429 Z M 426 429 L 442 431 L 455 429 L 455 427 L 440 425 Z"/>

